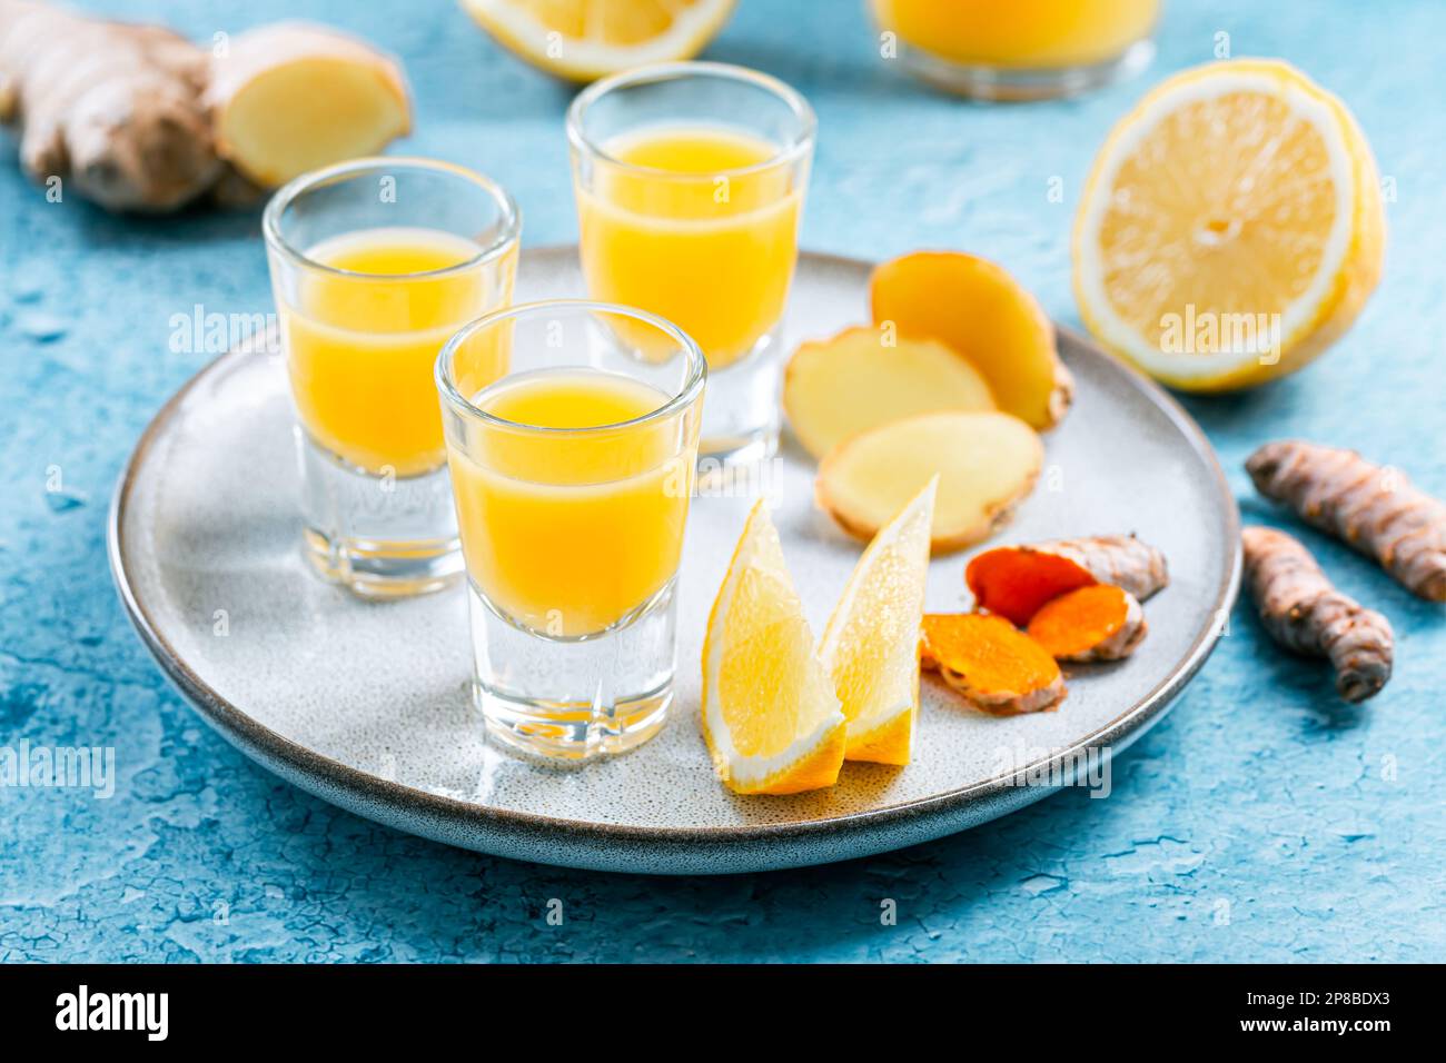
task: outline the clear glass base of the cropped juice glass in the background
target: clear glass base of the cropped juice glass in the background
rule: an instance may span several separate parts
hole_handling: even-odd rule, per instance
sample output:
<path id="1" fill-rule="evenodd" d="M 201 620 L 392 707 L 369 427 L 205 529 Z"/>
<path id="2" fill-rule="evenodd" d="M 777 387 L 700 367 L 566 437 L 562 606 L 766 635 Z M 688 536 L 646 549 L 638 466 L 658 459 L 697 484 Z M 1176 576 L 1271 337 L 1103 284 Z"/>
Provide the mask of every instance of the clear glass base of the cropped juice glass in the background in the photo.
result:
<path id="1" fill-rule="evenodd" d="M 1137 40 L 1105 62 L 1057 68 L 962 64 L 902 42 L 898 55 L 911 74 L 959 95 L 998 101 L 1057 100 L 1134 77 L 1154 59 L 1155 42 Z"/>

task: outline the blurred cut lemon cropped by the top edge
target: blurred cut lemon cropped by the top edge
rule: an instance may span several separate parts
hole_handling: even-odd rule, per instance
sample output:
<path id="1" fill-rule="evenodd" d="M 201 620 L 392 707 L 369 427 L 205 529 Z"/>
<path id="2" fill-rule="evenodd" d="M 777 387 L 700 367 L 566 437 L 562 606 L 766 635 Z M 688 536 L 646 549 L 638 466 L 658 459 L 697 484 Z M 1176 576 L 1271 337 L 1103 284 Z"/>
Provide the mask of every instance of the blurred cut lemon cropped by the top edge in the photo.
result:
<path id="1" fill-rule="evenodd" d="M 461 0 L 513 55 L 570 81 L 691 59 L 736 0 Z"/>

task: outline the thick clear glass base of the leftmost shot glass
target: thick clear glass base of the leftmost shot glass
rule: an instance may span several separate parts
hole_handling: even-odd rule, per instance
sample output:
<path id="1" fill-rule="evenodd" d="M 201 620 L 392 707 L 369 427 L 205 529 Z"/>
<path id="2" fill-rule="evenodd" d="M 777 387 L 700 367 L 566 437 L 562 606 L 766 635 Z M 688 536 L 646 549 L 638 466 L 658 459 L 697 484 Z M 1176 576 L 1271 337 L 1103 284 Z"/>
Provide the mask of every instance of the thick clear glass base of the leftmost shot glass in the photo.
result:
<path id="1" fill-rule="evenodd" d="M 461 579 L 445 466 L 376 476 L 322 450 L 296 427 L 302 554 L 312 571 L 362 597 L 409 597 Z"/>

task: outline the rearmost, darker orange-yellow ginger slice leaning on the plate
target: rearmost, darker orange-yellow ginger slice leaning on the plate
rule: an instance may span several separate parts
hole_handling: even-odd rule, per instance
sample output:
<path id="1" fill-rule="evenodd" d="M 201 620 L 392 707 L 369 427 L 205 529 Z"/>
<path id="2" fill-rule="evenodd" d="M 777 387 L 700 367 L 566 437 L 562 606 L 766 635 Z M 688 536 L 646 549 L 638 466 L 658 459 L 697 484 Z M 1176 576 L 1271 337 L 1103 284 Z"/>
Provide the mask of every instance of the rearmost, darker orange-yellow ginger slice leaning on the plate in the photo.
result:
<path id="1" fill-rule="evenodd" d="M 989 382 L 999 409 L 1044 431 L 1064 417 L 1074 380 L 1056 350 L 1054 325 L 1009 273 L 962 252 L 915 252 L 885 262 L 869 281 L 875 324 L 901 337 L 938 340 Z"/>

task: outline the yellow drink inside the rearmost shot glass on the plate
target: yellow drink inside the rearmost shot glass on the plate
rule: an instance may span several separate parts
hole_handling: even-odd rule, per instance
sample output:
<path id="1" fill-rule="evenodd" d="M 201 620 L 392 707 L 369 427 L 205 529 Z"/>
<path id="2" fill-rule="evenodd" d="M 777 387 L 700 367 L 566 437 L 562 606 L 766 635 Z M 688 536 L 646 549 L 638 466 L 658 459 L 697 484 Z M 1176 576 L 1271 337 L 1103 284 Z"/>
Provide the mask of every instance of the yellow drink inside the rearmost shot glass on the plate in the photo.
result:
<path id="1" fill-rule="evenodd" d="M 596 299 L 668 318 L 722 369 L 782 318 L 804 189 L 778 145 L 726 126 L 643 126 L 602 145 L 578 181 L 583 272 Z M 622 165 L 612 165 L 622 163 Z"/>

